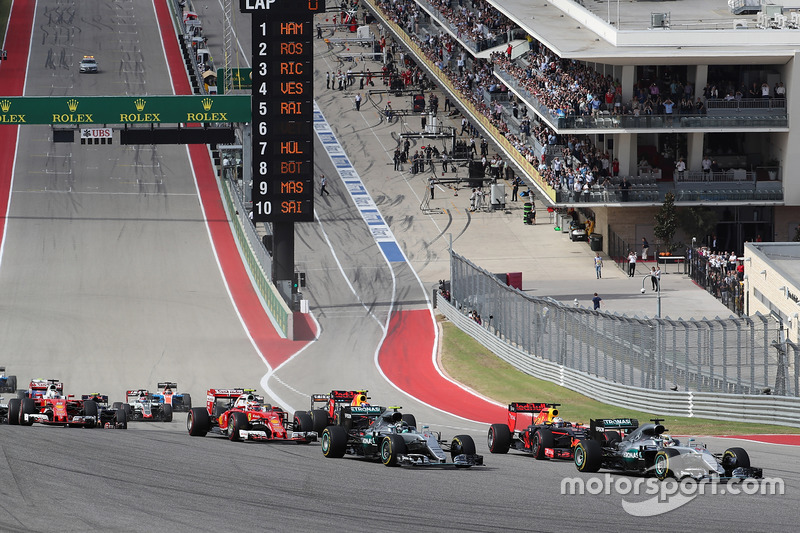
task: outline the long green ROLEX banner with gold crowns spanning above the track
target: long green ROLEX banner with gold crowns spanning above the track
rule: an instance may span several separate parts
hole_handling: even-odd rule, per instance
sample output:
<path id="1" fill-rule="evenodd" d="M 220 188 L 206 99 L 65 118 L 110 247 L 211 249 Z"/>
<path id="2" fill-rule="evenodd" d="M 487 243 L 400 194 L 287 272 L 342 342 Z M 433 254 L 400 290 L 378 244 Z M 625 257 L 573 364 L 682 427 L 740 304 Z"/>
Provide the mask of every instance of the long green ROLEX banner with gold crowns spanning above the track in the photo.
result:
<path id="1" fill-rule="evenodd" d="M 3 124 L 250 122 L 250 96 L 0 96 Z"/>

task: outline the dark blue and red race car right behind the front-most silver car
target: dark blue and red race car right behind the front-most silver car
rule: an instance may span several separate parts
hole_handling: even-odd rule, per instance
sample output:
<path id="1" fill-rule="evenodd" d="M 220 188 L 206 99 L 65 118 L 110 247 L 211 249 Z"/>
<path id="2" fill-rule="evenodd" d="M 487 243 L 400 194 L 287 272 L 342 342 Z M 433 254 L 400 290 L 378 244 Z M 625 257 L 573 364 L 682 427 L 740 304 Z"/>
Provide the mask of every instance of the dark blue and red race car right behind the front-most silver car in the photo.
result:
<path id="1" fill-rule="evenodd" d="M 507 453 L 513 448 L 536 459 L 572 459 L 573 449 L 580 439 L 586 438 L 588 427 L 561 419 L 556 409 L 559 405 L 509 404 L 508 423 L 492 424 L 489 428 L 489 451 Z"/>

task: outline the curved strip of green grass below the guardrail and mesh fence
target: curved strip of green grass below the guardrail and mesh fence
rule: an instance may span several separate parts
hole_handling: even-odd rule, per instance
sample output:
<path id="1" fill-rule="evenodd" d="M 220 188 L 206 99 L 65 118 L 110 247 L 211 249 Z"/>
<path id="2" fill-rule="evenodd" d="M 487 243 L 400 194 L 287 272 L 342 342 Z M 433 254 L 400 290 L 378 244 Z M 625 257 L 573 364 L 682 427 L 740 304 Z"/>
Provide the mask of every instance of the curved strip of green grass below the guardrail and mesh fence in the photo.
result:
<path id="1" fill-rule="evenodd" d="M 659 413 L 622 409 L 592 400 L 520 372 L 446 319 L 441 322 L 442 365 L 453 379 L 502 403 L 560 403 L 559 416 L 564 420 L 588 423 L 590 418 L 638 418 L 639 422 L 655 418 Z M 667 429 L 679 435 L 745 435 L 756 433 L 800 433 L 800 428 L 771 424 L 745 424 L 705 418 L 662 415 Z M 502 422 L 502 420 L 498 420 Z"/>

